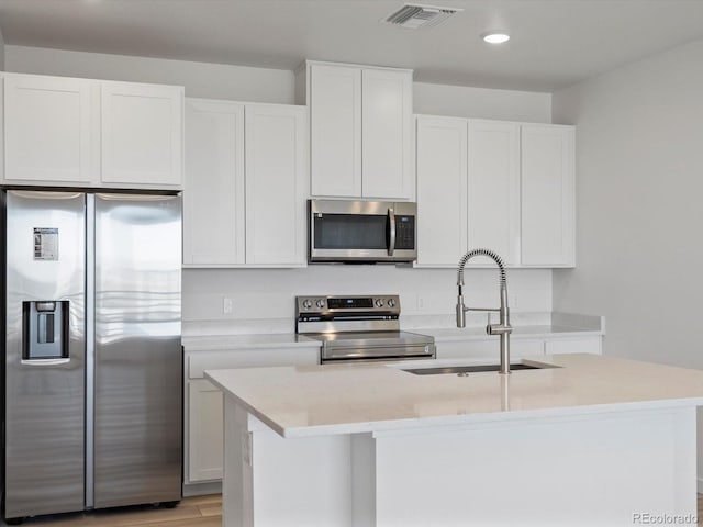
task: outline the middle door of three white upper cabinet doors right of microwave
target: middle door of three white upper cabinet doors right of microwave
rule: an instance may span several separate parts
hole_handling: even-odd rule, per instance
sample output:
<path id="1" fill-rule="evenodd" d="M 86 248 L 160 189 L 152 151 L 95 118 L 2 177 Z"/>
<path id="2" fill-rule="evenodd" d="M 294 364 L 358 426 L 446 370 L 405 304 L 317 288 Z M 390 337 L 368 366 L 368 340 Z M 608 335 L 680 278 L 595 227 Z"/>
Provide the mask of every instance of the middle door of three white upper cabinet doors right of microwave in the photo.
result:
<path id="1" fill-rule="evenodd" d="M 510 266 L 520 264 L 518 132 L 515 123 L 469 120 L 468 247 L 492 249 Z"/>

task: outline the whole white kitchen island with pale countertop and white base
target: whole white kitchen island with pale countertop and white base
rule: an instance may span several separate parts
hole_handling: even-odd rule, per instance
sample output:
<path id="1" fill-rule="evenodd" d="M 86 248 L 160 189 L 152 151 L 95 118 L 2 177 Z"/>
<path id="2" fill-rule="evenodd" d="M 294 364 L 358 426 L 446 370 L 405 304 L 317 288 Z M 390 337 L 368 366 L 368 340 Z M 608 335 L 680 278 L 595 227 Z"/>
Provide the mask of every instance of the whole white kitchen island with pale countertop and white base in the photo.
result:
<path id="1" fill-rule="evenodd" d="M 207 371 L 224 525 L 694 524 L 703 372 L 592 355 L 404 371 L 437 362 Z"/>

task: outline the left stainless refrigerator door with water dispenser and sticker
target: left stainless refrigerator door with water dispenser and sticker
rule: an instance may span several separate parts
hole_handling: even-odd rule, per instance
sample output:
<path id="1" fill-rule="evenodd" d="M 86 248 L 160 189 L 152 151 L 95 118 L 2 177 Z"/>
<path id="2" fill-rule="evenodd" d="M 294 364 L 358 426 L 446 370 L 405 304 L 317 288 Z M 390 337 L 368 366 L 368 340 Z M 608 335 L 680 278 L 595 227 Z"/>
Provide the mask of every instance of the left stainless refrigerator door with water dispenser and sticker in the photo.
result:
<path id="1" fill-rule="evenodd" d="M 4 516 L 82 511 L 86 197 L 4 198 Z"/>

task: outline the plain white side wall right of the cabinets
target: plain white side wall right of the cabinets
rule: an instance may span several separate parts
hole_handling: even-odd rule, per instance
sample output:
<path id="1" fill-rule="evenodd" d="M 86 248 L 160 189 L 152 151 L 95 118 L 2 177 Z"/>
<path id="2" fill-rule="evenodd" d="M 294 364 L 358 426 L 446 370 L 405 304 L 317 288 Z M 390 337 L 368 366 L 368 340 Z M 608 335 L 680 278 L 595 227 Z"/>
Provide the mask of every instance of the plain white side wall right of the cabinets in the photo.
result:
<path id="1" fill-rule="evenodd" d="M 605 354 L 703 368 L 703 41 L 555 93 L 577 128 L 577 262 L 555 310 L 603 314 Z M 703 411 L 699 411 L 703 492 Z"/>

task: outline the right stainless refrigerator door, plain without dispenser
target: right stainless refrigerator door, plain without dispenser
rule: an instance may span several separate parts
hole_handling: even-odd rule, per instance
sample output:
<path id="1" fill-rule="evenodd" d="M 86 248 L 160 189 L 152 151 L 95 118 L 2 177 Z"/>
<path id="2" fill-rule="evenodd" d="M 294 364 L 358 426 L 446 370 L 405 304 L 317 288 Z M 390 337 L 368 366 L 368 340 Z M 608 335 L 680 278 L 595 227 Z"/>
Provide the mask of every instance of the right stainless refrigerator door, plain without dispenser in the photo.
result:
<path id="1" fill-rule="evenodd" d="M 96 508 L 181 497 L 181 200 L 96 194 Z"/>

